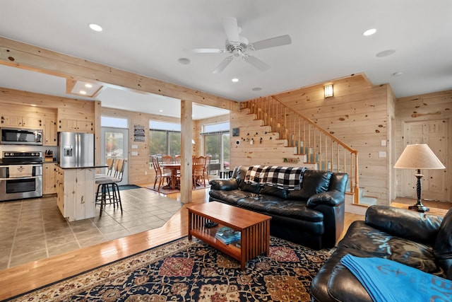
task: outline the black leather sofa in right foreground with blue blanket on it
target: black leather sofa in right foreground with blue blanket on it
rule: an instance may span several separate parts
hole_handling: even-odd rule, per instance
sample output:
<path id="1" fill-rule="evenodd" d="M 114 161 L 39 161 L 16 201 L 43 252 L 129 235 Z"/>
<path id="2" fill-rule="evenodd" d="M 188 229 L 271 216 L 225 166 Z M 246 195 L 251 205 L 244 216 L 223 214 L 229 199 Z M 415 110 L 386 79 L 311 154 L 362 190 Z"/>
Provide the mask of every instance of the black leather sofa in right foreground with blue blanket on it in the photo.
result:
<path id="1" fill-rule="evenodd" d="M 313 301 L 372 301 L 364 286 L 340 263 L 347 254 L 383 257 L 452 279 L 452 209 L 442 218 L 395 207 L 369 207 L 365 221 L 350 225 L 311 282 Z M 416 293 L 412 294 L 412 301 L 419 301 Z"/>

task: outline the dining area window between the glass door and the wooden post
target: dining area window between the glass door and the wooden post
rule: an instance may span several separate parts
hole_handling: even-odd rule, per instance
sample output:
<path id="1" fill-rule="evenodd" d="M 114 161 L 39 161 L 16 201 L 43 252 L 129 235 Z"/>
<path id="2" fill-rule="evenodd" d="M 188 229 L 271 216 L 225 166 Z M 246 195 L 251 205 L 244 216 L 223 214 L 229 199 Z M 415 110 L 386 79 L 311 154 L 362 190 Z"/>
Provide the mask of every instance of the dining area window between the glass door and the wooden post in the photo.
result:
<path id="1" fill-rule="evenodd" d="M 149 122 L 149 155 L 181 153 L 181 125 L 170 122 Z"/>

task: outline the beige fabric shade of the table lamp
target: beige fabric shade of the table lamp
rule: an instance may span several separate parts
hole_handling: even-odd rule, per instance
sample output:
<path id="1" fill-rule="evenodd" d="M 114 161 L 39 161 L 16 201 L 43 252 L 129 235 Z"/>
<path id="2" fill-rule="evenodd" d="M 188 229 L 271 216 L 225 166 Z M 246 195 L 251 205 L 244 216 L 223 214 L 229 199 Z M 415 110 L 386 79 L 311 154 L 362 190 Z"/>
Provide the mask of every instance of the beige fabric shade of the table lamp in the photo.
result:
<path id="1" fill-rule="evenodd" d="M 427 144 L 414 144 L 405 147 L 394 168 L 445 169 L 446 167 Z"/>

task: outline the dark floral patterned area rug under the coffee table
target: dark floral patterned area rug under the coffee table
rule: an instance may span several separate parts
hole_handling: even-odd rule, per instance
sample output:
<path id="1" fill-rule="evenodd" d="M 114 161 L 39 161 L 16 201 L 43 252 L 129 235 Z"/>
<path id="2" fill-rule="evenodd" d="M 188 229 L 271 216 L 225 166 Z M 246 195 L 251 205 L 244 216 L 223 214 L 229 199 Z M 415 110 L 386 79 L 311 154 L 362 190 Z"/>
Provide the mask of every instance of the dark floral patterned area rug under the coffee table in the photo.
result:
<path id="1" fill-rule="evenodd" d="M 194 239 L 175 240 L 12 301 L 311 301 L 309 286 L 332 250 L 279 238 L 247 263 Z"/>

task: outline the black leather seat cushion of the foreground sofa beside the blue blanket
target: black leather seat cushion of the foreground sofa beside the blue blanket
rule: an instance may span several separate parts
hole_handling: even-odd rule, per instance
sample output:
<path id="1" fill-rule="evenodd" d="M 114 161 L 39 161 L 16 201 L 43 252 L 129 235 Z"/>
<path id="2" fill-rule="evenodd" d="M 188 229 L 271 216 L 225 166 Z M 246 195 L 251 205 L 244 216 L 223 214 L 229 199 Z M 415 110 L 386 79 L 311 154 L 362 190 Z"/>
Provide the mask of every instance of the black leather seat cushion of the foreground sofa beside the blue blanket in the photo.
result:
<path id="1" fill-rule="evenodd" d="M 382 257 L 446 277 L 444 270 L 436 264 L 432 246 L 391 236 L 364 221 L 354 221 L 350 225 L 338 248 L 357 250 L 359 257 Z M 355 255 L 355 252 L 351 253 Z"/>

